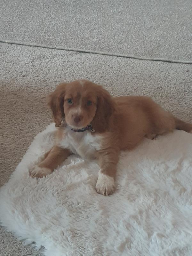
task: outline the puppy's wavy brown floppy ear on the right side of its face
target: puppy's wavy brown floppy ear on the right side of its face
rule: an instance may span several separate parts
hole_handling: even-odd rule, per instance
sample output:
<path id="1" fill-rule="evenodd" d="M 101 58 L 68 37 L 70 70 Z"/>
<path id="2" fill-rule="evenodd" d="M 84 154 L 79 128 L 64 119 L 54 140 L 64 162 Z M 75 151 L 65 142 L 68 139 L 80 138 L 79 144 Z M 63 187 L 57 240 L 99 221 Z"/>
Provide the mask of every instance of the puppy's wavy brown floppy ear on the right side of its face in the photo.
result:
<path id="1" fill-rule="evenodd" d="M 97 110 L 92 120 L 92 127 L 96 132 L 110 130 L 110 117 L 115 111 L 112 96 L 101 86 L 97 92 Z"/>

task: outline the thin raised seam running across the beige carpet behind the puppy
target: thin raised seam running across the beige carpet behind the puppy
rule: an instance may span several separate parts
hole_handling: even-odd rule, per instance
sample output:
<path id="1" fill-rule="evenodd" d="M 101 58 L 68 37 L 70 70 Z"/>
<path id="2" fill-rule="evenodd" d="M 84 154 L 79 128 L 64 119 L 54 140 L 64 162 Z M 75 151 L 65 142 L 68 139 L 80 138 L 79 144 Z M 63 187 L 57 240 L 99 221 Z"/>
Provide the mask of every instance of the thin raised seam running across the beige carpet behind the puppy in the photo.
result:
<path id="1" fill-rule="evenodd" d="M 24 45 L 24 46 L 31 46 L 31 47 L 40 47 L 40 48 L 46 48 L 46 49 L 71 51 L 71 52 L 92 53 L 92 54 L 98 54 L 98 55 L 122 57 L 122 58 L 127 58 L 127 59 L 136 59 L 136 60 L 162 61 L 162 62 L 170 62 L 170 63 L 192 64 L 192 61 L 190 61 L 190 60 L 174 60 L 174 59 L 165 59 L 165 58 L 139 57 L 139 56 L 135 56 L 135 55 L 126 55 L 126 54 L 120 54 L 120 53 L 100 52 L 100 51 L 84 50 L 84 49 L 78 49 L 78 48 L 68 48 L 68 47 L 58 47 L 58 46 L 50 46 L 50 45 L 46 45 L 46 44 L 27 43 L 27 42 L 4 40 L 4 39 L 0 39 L 0 43 Z"/>

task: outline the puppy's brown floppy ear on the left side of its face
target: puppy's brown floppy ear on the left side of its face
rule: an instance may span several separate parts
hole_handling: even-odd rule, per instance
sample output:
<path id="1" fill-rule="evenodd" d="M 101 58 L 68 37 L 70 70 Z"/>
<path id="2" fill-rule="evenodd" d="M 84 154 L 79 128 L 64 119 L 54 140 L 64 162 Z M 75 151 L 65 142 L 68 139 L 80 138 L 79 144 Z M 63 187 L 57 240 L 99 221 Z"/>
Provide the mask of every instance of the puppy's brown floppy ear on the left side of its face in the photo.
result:
<path id="1" fill-rule="evenodd" d="M 59 127 L 64 114 L 64 96 L 65 96 L 66 84 L 59 84 L 54 92 L 48 96 L 48 105 L 52 110 L 55 126 Z"/>

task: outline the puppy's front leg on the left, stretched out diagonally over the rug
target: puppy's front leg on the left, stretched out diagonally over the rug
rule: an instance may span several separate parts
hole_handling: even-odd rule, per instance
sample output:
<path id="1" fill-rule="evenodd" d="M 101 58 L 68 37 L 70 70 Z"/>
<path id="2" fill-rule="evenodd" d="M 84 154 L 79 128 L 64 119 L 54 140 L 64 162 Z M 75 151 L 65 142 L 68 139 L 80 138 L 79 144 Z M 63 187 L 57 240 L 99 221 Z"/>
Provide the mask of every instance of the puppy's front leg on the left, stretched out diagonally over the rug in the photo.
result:
<path id="1" fill-rule="evenodd" d="M 35 165 L 29 170 L 29 175 L 32 178 L 42 178 L 53 172 L 53 170 L 71 155 L 68 149 L 54 146 L 45 157 L 45 159 L 38 165 Z"/>

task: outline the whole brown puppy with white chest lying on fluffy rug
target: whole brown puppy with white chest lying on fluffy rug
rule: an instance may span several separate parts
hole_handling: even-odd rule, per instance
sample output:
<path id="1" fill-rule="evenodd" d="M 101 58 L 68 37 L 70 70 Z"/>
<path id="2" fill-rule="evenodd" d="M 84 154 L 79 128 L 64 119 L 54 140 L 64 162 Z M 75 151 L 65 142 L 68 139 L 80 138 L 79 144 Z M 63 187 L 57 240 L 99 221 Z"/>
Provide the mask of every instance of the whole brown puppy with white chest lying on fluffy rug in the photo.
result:
<path id="1" fill-rule="evenodd" d="M 41 178 L 71 154 L 98 159 L 96 190 L 102 195 L 115 191 L 114 178 L 120 150 L 135 148 L 144 138 L 174 129 L 192 133 L 185 123 L 164 111 L 148 97 L 112 97 L 102 86 L 87 80 L 63 83 L 49 96 L 57 134 L 54 147 L 30 171 Z"/>

